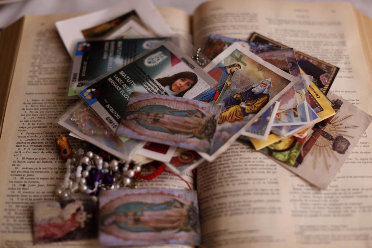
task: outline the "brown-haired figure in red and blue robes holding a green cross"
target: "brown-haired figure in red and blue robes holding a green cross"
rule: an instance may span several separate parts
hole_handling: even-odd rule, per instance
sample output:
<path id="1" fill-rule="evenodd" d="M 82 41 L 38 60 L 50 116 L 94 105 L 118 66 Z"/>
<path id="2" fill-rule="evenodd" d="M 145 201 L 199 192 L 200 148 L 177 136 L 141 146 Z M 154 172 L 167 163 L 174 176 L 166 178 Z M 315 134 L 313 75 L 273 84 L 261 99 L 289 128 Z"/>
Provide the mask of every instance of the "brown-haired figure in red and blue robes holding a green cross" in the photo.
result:
<path id="1" fill-rule="evenodd" d="M 224 94 L 223 89 L 225 87 L 225 91 L 230 88 L 231 85 L 231 77 L 235 73 L 235 71 L 240 70 L 241 65 L 238 63 L 234 63 L 228 66 L 220 66 L 217 69 L 210 71 L 208 74 L 218 82 L 218 87 L 216 89 L 209 89 L 205 91 L 197 100 L 203 102 L 212 102 L 216 101 L 220 94 Z"/>

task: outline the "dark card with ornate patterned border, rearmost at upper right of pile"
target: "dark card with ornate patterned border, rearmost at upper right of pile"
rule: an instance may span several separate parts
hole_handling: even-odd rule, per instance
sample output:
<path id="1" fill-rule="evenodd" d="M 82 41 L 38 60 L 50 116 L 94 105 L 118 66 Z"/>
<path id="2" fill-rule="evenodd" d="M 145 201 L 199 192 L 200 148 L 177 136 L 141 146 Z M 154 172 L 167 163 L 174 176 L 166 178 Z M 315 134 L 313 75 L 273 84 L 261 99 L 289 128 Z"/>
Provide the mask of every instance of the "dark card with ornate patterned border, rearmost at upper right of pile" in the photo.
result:
<path id="1" fill-rule="evenodd" d="M 289 48 L 286 45 L 280 44 L 277 41 L 274 41 L 255 32 L 251 34 L 250 38 L 248 38 L 248 41 L 281 46 L 282 48 Z M 314 58 L 310 55 L 304 54 L 303 52 L 295 51 L 295 54 L 299 67 L 306 74 L 314 76 L 312 82 L 316 84 L 316 86 L 324 94 L 327 94 L 340 68 L 324 62 L 320 59 Z"/>

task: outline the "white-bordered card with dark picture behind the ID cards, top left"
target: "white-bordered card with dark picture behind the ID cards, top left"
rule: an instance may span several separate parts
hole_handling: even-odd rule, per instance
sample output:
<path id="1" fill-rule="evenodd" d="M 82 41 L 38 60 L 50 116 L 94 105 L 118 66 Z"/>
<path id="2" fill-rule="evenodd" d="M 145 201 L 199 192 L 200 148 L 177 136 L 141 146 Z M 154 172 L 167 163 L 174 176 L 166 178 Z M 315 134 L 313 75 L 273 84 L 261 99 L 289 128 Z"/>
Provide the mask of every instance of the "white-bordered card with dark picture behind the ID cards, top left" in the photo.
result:
<path id="1" fill-rule="evenodd" d="M 128 20 L 142 24 L 143 28 L 155 36 L 166 37 L 173 34 L 150 0 L 126 0 L 109 9 L 61 20 L 55 25 L 68 53 L 73 57 L 77 42 L 98 38 L 116 39 L 125 35 L 128 32 L 125 27 Z"/>

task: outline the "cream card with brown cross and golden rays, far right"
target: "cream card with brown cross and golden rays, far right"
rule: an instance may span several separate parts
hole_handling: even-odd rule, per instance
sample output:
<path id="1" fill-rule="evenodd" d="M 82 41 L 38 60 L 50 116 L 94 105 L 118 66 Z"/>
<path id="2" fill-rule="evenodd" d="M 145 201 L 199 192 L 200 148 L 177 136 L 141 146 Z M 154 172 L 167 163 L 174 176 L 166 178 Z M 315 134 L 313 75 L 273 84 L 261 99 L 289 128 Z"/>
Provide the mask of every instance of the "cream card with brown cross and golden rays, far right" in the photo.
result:
<path id="1" fill-rule="evenodd" d="M 315 186 L 325 189 L 371 124 L 372 117 L 333 92 L 336 115 L 314 125 L 293 166 L 282 164 Z"/>

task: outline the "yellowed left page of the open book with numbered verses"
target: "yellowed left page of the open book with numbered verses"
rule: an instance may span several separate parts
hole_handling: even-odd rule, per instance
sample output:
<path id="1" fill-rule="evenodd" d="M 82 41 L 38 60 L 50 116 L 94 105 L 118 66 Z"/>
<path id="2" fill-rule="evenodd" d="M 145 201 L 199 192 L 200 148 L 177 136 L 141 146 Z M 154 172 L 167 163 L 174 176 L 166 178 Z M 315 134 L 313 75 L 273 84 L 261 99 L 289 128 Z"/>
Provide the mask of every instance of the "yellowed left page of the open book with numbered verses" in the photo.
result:
<path id="1" fill-rule="evenodd" d="M 71 15 L 26 16 L 0 138 L 0 247 L 32 244 L 34 202 L 54 200 L 65 165 L 55 136 L 68 132 L 54 120 L 72 102 L 65 99 L 71 59 L 54 23 Z M 4 30 L 5 31 L 5 30 Z M 77 139 L 69 138 L 78 146 Z M 193 187 L 192 175 L 183 178 Z M 139 187 L 189 189 L 179 177 L 164 173 Z M 99 247 L 98 239 L 50 243 L 47 247 Z M 185 246 L 170 246 L 180 248 Z"/>

